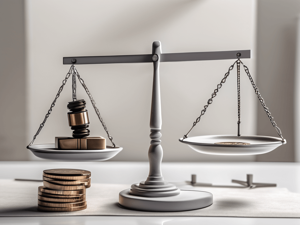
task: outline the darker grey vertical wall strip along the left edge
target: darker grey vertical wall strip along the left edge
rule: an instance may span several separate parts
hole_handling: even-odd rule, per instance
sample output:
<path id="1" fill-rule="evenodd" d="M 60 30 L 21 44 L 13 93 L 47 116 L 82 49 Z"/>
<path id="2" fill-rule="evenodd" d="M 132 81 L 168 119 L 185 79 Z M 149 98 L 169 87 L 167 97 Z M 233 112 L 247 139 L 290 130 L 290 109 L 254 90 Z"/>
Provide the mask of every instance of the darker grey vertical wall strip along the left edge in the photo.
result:
<path id="1" fill-rule="evenodd" d="M 28 160 L 24 1 L 0 1 L 1 161 Z"/>

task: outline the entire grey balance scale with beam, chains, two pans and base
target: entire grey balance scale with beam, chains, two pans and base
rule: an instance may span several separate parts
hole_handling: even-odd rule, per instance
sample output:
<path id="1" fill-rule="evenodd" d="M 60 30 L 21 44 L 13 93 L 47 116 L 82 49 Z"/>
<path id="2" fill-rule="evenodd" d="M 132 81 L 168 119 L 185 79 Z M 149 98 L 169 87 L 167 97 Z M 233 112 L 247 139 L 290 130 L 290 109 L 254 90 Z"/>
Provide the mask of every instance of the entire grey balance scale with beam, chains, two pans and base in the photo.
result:
<path id="1" fill-rule="evenodd" d="M 253 79 L 249 73 L 247 66 L 245 66 L 240 59 L 250 58 L 250 50 L 239 51 L 221 51 L 221 52 L 184 52 L 184 53 L 164 53 L 161 52 L 161 42 L 155 41 L 152 45 L 152 54 L 146 55 L 111 55 L 111 56 L 91 56 L 91 57 L 64 57 L 64 64 L 71 64 L 71 68 L 63 85 L 58 91 L 58 95 L 53 101 L 50 110 L 48 111 L 44 122 L 40 125 L 38 132 L 35 134 L 32 142 L 27 146 L 33 154 L 37 157 L 54 160 L 54 161 L 104 161 L 112 158 L 118 154 L 122 148 L 115 146 L 112 141 L 106 125 L 104 124 L 102 117 L 100 116 L 98 108 L 95 106 L 95 102 L 91 97 L 84 81 L 79 76 L 78 71 L 74 65 L 76 64 L 110 64 L 110 63 L 153 63 L 154 75 L 153 75 L 153 89 L 152 89 L 152 105 L 150 116 L 150 148 L 148 152 L 149 157 L 149 175 L 145 181 L 137 184 L 132 184 L 131 188 L 123 190 L 119 193 L 119 205 L 120 207 L 139 210 L 139 211 L 187 211 L 199 208 L 204 208 L 213 203 L 213 195 L 204 191 L 193 190 L 179 190 L 174 184 L 170 184 L 164 180 L 161 173 L 161 161 L 163 157 L 163 149 L 161 147 L 161 96 L 160 96 L 160 80 L 159 80 L 159 64 L 160 62 L 176 62 L 176 61 L 202 61 L 202 60 L 221 60 L 221 59 L 236 59 L 235 63 L 238 69 L 238 135 L 210 135 L 210 136 L 198 136 L 187 137 L 193 127 L 199 122 L 201 116 L 205 113 L 209 104 L 212 103 L 212 98 L 217 95 L 218 90 L 225 83 L 230 70 L 233 66 L 229 67 L 228 72 L 222 79 L 221 83 L 217 85 L 217 89 L 214 90 L 212 97 L 208 100 L 207 105 L 201 111 L 200 116 L 193 123 L 190 131 L 180 138 L 179 141 L 187 144 L 197 152 L 205 154 L 215 155 L 253 155 L 263 154 L 270 152 L 278 146 L 285 144 L 286 140 L 282 137 L 280 129 L 265 106 L 263 99 L 261 98 L 258 88 L 255 86 Z M 277 137 L 265 137 L 265 136 L 245 136 L 239 134 L 240 125 L 240 97 L 239 97 L 239 71 L 240 64 L 244 66 L 244 69 L 253 85 L 256 95 L 259 98 L 264 110 L 266 111 L 272 125 L 276 129 L 280 138 Z M 36 136 L 49 117 L 49 114 L 54 107 L 59 93 L 67 81 L 70 74 L 73 74 L 73 101 L 74 101 L 74 89 L 76 91 L 76 83 L 74 88 L 74 80 L 76 82 L 76 76 L 80 83 L 85 88 L 95 112 L 98 115 L 108 138 L 112 142 L 113 146 L 107 146 L 103 150 L 58 150 L 55 149 L 54 144 L 39 144 L 32 145 Z M 76 76 L 75 76 L 76 75 Z M 75 92 L 76 96 L 76 92 Z M 75 98 L 76 99 L 76 98 Z"/>

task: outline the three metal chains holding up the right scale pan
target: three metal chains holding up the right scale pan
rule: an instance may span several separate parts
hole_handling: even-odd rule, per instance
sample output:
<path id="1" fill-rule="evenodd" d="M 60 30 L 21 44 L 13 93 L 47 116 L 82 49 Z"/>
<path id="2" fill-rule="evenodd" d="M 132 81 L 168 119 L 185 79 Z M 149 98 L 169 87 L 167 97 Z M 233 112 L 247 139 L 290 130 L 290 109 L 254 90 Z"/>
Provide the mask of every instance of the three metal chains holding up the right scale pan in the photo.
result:
<path id="1" fill-rule="evenodd" d="M 279 136 L 281 137 L 282 142 L 285 142 L 285 139 L 282 137 L 282 134 L 281 134 L 280 129 L 277 127 L 277 125 L 276 125 L 276 123 L 275 123 L 275 121 L 274 121 L 274 118 L 271 116 L 270 111 L 269 111 L 268 108 L 266 107 L 265 102 L 264 102 L 263 98 L 261 97 L 261 95 L 260 95 L 260 93 L 259 93 L 259 91 L 258 91 L 258 88 L 257 88 L 256 85 L 254 84 L 254 81 L 253 81 L 253 79 L 252 79 L 252 77 L 251 77 L 251 75 L 250 75 L 250 72 L 249 72 L 248 67 L 245 66 L 244 63 L 243 63 L 240 59 L 238 59 L 237 61 L 235 61 L 235 62 L 229 67 L 228 72 L 225 73 L 224 78 L 222 79 L 222 81 L 220 82 L 220 84 L 217 85 L 217 89 L 214 90 L 214 93 L 212 93 L 211 98 L 208 99 L 207 105 L 204 106 L 204 109 L 201 111 L 201 115 L 196 119 L 195 122 L 193 122 L 193 126 L 192 126 L 192 128 L 190 129 L 190 131 L 191 131 L 191 130 L 193 129 L 193 127 L 200 121 L 200 118 L 201 118 L 201 116 L 204 115 L 204 113 L 206 112 L 206 109 L 207 109 L 208 105 L 212 103 L 212 99 L 213 99 L 214 97 L 216 97 L 217 92 L 218 92 L 219 89 L 222 87 L 222 84 L 225 83 L 226 78 L 229 76 L 230 70 L 233 69 L 233 66 L 234 66 L 235 63 L 237 63 L 237 67 L 238 67 L 237 69 L 238 69 L 238 120 L 239 120 L 239 122 L 240 122 L 240 114 L 241 114 L 241 112 L 240 112 L 240 109 L 241 109 L 241 108 L 240 108 L 240 88 L 239 88 L 239 84 L 240 84 L 240 82 L 239 82 L 239 67 L 240 67 L 240 63 L 241 63 L 241 64 L 243 64 L 244 70 L 245 70 L 245 72 L 247 73 L 247 76 L 248 76 L 249 79 L 250 79 L 250 82 L 251 82 L 251 84 L 252 84 L 252 86 L 253 86 L 253 88 L 254 88 L 255 94 L 257 95 L 257 97 L 258 97 L 260 103 L 262 104 L 262 106 L 263 106 L 265 112 L 267 113 L 269 119 L 271 120 L 271 123 L 272 123 L 273 127 L 275 128 L 275 130 L 277 131 L 277 133 L 278 133 Z M 187 134 L 183 136 L 183 139 L 187 138 L 187 135 L 190 133 L 190 131 L 187 132 Z"/>

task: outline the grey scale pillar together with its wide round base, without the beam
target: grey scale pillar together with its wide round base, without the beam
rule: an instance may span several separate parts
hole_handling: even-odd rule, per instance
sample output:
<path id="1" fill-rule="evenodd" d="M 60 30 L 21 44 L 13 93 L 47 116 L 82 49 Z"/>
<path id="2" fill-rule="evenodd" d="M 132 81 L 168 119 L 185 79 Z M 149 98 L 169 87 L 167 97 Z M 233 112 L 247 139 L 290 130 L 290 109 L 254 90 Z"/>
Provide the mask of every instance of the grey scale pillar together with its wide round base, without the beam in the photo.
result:
<path id="1" fill-rule="evenodd" d="M 146 181 L 132 184 L 130 189 L 119 193 L 119 205 L 140 211 L 186 211 L 204 208 L 212 204 L 211 193 L 202 191 L 179 190 L 174 184 L 164 180 L 161 173 L 163 148 L 161 147 L 161 92 L 159 64 L 161 42 L 152 44 L 153 89 L 150 115 L 149 175 Z"/>

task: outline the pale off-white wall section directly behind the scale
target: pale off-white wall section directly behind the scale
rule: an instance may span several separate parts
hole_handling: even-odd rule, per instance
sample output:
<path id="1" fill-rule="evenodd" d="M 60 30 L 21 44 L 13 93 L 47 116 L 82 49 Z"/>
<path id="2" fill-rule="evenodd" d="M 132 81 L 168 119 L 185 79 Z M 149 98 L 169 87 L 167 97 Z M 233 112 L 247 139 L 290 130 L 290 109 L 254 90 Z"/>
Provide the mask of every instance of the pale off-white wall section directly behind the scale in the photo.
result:
<path id="1" fill-rule="evenodd" d="M 242 61 L 255 81 L 256 1 L 26 1 L 27 141 L 32 140 L 68 72 L 66 56 L 150 54 L 152 42 L 162 52 L 251 49 Z M 163 161 L 252 161 L 254 156 L 215 156 L 197 153 L 178 139 L 190 129 L 211 93 L 234 60 L 161 63 Z M 118 146 L 112 160 L 147 161 L 153 65 L 78 65 L 101 116 Z M 256 133 L 257 97 L 241 73 L 241 134 Z M 77 82 L 77 98 L 88 100 Z M 54 143 L 55 136 L 71 136 L 67 102 L 71 79 L 58 98 L 35 144 Z M 190 136 L 236 134 L 236 69 L 208 107 Z M 107 137 L 87 107 L 90 136 Z M 109 140 L 107 139 L 109 144 Z M 35 158 L 31 154 L 31 159 Z"/>

